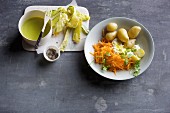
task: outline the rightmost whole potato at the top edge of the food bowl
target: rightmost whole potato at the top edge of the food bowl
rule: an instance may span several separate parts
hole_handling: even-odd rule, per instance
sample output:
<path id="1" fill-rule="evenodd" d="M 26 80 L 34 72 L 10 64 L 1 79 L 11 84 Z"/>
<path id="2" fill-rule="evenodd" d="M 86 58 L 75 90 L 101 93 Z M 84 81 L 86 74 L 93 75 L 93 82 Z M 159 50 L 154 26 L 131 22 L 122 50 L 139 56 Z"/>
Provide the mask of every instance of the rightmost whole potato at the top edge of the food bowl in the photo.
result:
<path id="1" fill-rule="evenodd" d="M 129 31 L 128 31 L 128 36 L 129 38 L 136 38 L 141 31 L 141 27 L 139 26 L 133 26 Z"/>

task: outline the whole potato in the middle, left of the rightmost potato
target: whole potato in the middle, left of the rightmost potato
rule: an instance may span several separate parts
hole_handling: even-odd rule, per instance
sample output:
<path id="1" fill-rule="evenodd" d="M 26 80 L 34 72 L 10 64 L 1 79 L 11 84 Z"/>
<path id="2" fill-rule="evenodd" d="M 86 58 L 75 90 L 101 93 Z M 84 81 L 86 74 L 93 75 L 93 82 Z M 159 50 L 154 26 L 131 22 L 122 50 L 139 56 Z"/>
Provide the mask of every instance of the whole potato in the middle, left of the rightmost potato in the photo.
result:
<path id="1" fill-rule="evenodd" d="M 127 42 L 129 40 L 129 36 L 127 34 L 127 31 L 124 28 L 120 28 L 118 30 L 117 36 L 118 36 L 119 40 L 122 41 L 122 42 Z"/>

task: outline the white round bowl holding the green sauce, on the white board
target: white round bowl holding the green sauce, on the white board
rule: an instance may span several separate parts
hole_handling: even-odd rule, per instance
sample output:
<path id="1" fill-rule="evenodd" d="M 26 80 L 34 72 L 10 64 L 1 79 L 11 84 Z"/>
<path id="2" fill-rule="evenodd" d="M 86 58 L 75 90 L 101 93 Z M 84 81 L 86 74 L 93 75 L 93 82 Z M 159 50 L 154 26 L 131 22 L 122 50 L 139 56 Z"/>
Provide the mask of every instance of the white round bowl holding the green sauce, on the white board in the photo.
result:
<path id="1" fill-rule="evenodd" d="M 30 12 L 25 13 L 20 18 L 19 23 L 18 23 L 18 29 L 19 29 L 19 32 L 21 33 L 22 37 L 23 37 L 23 40 L 26 43 L 34 46 L 36 44 L 37 40 L 30 40 L 29 38 L 25 37 L 24 34 L 21 31 L 22 25 L 24 24 L 25 21 L 27 21 L 30 18 L 34 18 L 34 17 L 44 18 L 44 16 L 45 16 L 45 12 L 39 11 L 39 10 L 34 10 L 34 11 L 30 11 Z M 51 21 L 50 21 L 50 26 L 51 26 Z M 50 31 L 48 32 L 48 34 L 44 38 L 41 39 L 41 42 L 45 43 L 46 39 L 48 37 L 51 37 L 51 35 L 52 35 L 52 26 L 51 26 Z"/>

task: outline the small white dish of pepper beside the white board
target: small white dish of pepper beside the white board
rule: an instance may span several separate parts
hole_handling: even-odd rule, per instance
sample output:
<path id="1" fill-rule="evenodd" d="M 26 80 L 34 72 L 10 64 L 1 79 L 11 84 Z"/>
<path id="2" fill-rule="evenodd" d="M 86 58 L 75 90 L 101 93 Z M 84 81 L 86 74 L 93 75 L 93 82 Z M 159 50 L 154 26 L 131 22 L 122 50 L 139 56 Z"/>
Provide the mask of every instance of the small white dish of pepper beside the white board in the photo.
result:
<path id="1" fill-rule="evenodd" d="M 47 55 L 47 51 L 49 49 L 54 49 L 57 53 L 57 57 L 55 59 L 50 59 Z M 44 52 L 43 52 L 43 55 L 44 55 L 44 58 L 49 61 L 49 62 L 54 62 L 56 60 L 58 60 L 60 58 L 60 49 L 57 47 L 57 46 L 54 46 L 54 45 L 51 45 L 51 46 L 47 46 L 45 49 L 44 49 Z"/>

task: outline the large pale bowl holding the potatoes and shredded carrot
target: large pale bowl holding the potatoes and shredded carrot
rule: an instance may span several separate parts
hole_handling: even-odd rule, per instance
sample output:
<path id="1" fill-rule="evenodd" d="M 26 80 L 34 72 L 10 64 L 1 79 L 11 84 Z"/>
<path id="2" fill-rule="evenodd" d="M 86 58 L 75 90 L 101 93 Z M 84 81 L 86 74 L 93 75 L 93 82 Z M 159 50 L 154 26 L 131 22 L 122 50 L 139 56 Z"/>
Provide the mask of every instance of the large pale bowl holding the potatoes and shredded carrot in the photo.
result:
<path id="1" fill-rule="evenodd" d="M 139 22 L 129 19 L 129 18 L 125 18 L 125 17 L 109 18 L 109 19 L 106 19 L 106 20 L 98 23 L 97 25 L 95 25 L 92 28 L 92 30 L 90 31 L 90 33 L 88 34 L 88 36 L 86 38 L 85 45 L 84 45 L 84 53 L 85 53 L 86 60 L 87 60 L 88 64 L 90 65 L 90 67 L 95 72 L 97 72 L 98 74 L 100 74 L 103 77 L 106 77 L 106 78 L 109 78 L 112 80 L 127 80 L 127 79 L 134 78 L 134 76 L 132 75 L 132 72 L 130 72 L 130 71 L 117 71 L 117 73 L 115 75 L 113 72 L 101 70 L 101 65 L 95 64 L 93 62 L 94 57 L 90 54 L 90 52 L 92 52 L 92 53 L 94 52 L 94 49 L 92 46 L 94 44 L 98 43 L 99 40 L 101 40 L 102 29 L 105 28 L 106 25 L 110 22 L 117 23 L 118 29 L 125 28 L 126 30 L 128 30 L 133 26 L 140 26 L 142 28 L 139 36 L 137 37 L 137 41 L 136 41 L 137 44 L 139 44 L 140 47 L 145 50 L 145 56 L 142 58 L 141 64 L 140 64 L 140 69 L 141 69 L 140 74 L 143 73 L 151 64 L 151 61 L 154 56 L 154 50 L 155 50 L 154 42 L 153 42 L 151 34 Z"/>

